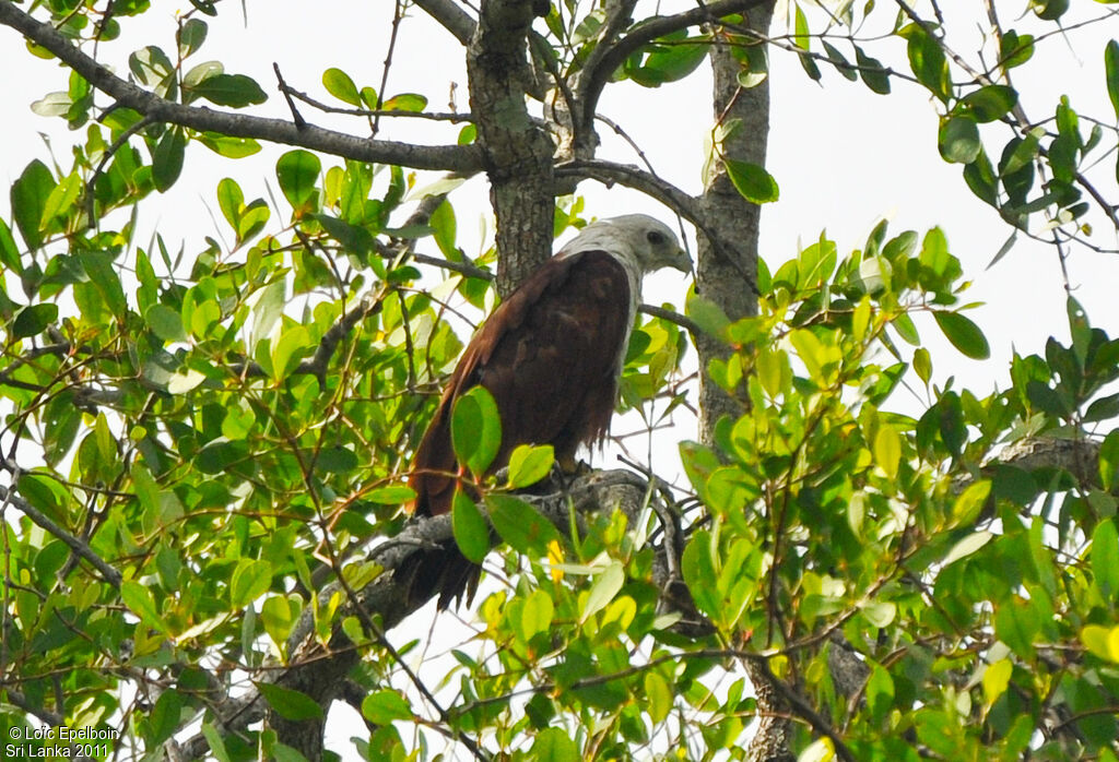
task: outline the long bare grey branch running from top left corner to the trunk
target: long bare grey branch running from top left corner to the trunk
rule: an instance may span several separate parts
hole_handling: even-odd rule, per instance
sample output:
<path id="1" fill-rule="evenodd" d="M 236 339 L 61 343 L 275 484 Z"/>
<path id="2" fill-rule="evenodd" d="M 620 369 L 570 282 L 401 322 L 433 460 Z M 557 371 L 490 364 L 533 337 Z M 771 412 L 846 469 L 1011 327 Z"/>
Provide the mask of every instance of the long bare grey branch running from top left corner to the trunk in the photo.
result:
<path id="1" fill-rule="evenodd" d="M 299 127 L 291 122 L 232 114 L 211 108 L 184 106 L 138 87 L 74 47 L 48 23 L 41 23 L 9 0 L 0 0 L 0 23 L 11 27 L 85 77 L 91 85 L 157 122 L 178 124 L 201 132 L 219 132 L 231 137 L 252 137 L 297 145 L 358 161 L 398 164 L 420 170 L 468 172 L 482 166 L 481 151 L 473 145 L 413 145 L 396 141 L 368 140 L 313 125 Z"/>

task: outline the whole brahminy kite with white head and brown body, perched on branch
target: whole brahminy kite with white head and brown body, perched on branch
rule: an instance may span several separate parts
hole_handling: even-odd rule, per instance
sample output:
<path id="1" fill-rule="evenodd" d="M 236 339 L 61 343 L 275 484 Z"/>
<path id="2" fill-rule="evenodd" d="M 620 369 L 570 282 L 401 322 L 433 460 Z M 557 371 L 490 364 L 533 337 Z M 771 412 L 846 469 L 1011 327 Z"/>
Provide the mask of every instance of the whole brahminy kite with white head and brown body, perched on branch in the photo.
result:
<path id="1" fill-rule="evenodd" d="M 451 511 L 460 465 L 451 446 L 451 409 L 476 385 L 497 402 L 501 444 L 489 473 L 509 463 L 518 445 L 552 445 L 573 470 L 575 451 L 601 445 L 610 428 L 641 280 L 662 267 L 692 272 L 673 231 L 645 215 L 599 220 L 530 274 L 470 340 L 439 410 L 416 450 L 408 485 L 414 511 Z M 439 592 L 445 609 L 473 596 L 480 568 L 451 542 L 423 551 L 410 590 Z"/>

